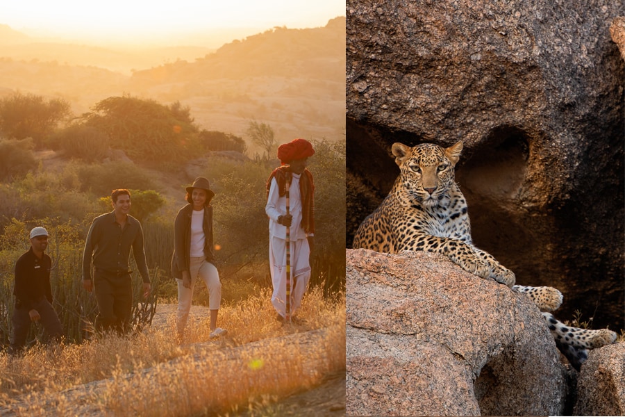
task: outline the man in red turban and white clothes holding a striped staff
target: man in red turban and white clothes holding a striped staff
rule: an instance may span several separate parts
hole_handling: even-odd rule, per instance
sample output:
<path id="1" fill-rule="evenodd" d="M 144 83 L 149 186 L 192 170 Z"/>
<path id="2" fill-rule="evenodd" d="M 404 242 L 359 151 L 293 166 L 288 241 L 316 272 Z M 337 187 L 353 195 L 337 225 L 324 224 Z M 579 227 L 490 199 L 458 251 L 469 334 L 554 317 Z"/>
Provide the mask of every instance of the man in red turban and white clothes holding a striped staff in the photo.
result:
<path id="1" fill-rule="evenodd" d="M 269 268 L 274 291 L 272 304 L 278 319 L 285 318 L 286 309 L 286 229 L 289 228 L 290 314 L 301 305 L 301 299 L 310 281 L 310 252 L 313 250 L 315 218 L 313 174 L 306 169 L 310 156 L 315 154 L 308 140 L 294 139 L 278 147 L 282 166 L 267 179 L 269 216 Z M 286 187 L 289 184 L 289 214 L 286 213 Z"/>

